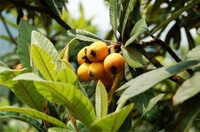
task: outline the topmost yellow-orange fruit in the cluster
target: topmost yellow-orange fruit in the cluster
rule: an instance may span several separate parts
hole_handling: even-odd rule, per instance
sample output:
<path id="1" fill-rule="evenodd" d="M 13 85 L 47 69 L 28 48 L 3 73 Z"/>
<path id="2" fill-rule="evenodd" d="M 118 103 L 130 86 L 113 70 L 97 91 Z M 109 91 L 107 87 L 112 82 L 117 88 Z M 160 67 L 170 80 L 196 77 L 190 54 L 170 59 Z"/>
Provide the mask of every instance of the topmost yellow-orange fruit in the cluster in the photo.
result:
<path id="1" fill-rule="evenodd" d="M 104 42 L 94 42 L 87 49 L 90 61 L 102 61 L 108 55 L 108 46 Z"/>

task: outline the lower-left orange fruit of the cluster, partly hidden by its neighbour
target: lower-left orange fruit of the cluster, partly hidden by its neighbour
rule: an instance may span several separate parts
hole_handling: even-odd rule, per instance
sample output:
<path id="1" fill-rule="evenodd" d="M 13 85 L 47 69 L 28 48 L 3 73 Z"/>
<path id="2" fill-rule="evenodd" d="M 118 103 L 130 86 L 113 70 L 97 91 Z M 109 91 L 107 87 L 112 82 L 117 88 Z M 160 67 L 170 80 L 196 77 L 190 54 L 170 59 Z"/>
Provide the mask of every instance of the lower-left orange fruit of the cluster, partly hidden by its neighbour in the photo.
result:
<path id="1" fill-rule="evenodd" d="M 89 69 L 89 64 L 83 63 L 82 65 L 79 66 L 77 70 L 78 78 L 83 82 L 91 80 L 88 75 L 88 69 Z"/>

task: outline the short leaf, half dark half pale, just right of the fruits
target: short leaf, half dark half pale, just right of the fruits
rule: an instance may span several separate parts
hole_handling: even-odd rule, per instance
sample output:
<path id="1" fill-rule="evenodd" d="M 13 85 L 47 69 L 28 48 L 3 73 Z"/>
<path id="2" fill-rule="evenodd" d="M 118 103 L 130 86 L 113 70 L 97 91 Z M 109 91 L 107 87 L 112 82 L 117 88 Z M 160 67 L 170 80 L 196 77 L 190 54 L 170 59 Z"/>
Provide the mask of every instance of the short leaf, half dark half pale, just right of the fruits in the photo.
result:
<path id="1" fill-rule="evenodd" d="M 138 68 L 144 66 L 142 54 L 134 47 L 122 47 L 122 54 L 132 68 Z"/>

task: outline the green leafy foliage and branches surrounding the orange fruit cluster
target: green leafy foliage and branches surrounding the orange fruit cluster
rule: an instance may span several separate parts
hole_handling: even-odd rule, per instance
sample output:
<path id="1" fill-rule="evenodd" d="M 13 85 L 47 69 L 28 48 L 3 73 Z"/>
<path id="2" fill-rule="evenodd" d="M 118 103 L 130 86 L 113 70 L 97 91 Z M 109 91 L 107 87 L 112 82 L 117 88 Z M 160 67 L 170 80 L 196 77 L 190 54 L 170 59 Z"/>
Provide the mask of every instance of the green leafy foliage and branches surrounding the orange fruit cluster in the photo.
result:
<path id="1" fill-rule="evenodd" d="M 18 25 L 1 14 L 8 36 L 0 39 L 16 49 L 0 61 L 0 131 L 7 118 L 44 132 L 200 129 L 200 45 L 190 32 L 199 34 L 200 0 L 106 1 L 112 30 L 105 38 L 81 5 L 75 19 L 66 0 L 0 2 L 0 11 Z M 78 52 L 96 41 L 126 61 L 110 89 L 101 81 L 81 82 L 76 74 Z M 14 69 L 17 63 L 23 68 Z"/>

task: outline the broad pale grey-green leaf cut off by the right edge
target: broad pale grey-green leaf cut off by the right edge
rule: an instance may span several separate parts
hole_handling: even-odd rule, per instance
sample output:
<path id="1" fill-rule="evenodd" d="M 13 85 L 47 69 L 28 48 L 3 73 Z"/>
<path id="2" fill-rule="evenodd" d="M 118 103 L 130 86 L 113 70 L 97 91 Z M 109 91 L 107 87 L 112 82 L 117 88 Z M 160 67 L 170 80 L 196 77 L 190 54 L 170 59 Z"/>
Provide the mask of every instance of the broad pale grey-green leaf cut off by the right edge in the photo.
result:
<path id="1" fill-rule="evenodd" d="M 200 71 L 195 72 L 195 74 L 186 80 L 180 88 L 177 90 L 173 97 L 174 105 L 180 104 L 191 97 L 197 95 L 200 92 Z"/>

